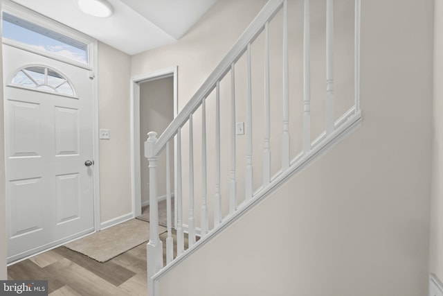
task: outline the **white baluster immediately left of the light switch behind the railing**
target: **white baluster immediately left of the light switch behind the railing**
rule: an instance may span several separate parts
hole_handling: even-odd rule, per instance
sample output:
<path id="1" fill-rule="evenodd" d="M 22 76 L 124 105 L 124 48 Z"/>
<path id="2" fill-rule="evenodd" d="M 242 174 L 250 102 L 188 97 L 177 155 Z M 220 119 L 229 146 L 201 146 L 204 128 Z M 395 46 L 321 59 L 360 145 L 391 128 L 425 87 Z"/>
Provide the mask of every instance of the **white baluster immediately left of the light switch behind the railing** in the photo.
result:
<path id="1" fill-rule="evenodd" d="M 235 65 L 230 65 L 230 182 L 229 213 L 237 209 L 237 182 L 235 181 Z"/>

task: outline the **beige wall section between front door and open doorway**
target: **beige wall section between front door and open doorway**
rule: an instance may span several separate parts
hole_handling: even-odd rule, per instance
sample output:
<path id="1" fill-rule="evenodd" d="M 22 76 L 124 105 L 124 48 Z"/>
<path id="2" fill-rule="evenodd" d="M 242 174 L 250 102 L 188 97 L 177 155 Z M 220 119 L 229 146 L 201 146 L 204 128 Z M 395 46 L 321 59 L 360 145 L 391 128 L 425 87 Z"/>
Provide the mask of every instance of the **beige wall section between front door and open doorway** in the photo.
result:
<path id="1" fill-rule="evenodd" d="M 99 42 L 100 219 L 102 223 L 132 212 L 130 148 L 130 56 Z"/>

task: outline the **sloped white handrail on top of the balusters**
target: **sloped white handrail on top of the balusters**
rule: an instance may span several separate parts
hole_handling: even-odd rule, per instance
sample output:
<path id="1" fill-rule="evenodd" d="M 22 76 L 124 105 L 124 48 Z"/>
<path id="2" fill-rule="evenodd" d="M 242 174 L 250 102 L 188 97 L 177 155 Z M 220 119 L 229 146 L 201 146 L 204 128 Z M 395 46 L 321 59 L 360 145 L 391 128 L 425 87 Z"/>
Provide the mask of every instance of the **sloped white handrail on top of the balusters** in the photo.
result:
<path id="1" fill-rule="evenodd" d="M 213 73 L 210 74 L 195 95 L 192 96 L 190 101 L 188 101 L 185 107 L 183 107 L 183 110 L 179 112 L 177 117 L 161 134 L 155 143 L 154 155 L 159 155 L 161 153 L 165 148 L 166 143 L 170 141 L 170 139 L 172 139 L 177 133 L 177 130 L 188 121 L 190 114 L 194 113 L 201 105 L 201 101 L 206 98 L 213 89 L 215 89 L 217 81 L 221 80 L 221 78 L 230 71 L 230 65 L 233 64 L 233 62 L 237 62 L 237 60 L 241 58 L 246 51 L 246 46 L 251 44 L 255 38 L 260 35 L 266 21 L 269 21 L 280 10 L 283 6 L 283 2 L 284 0 L 269 0 L 262 10 L 260 10 L 257 17 L 255 17 L 248 28 L 246 28 L 246 31 L 244 31 L 237 42 L 235 42 L 234 46 L 228 51 L 228 54 L 223 60 L 221 60 L 217 67 L 215 67 Z"/>

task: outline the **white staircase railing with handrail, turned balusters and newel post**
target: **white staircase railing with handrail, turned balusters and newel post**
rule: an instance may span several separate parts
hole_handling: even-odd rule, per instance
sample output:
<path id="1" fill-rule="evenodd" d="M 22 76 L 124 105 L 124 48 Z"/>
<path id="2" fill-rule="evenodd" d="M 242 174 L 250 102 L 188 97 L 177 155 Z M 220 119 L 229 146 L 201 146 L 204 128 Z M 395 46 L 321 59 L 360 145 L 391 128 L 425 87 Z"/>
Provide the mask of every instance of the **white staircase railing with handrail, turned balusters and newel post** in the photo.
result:
<path id="1" fill-rule="evenodd" d="M 353 86 L 354 98 L 348 109 L 343 109 L 343 100 L 334 94 L 334 1 L 325 2 L 326 75 L 323 85 L 314 85 L 316 89 L 324 89 L 323 100 L 314 101 L 311 96 L 311 61 L 316 57 L 311 58 L 309 0 L 304 0 L 302 6 L 300 85 L 303 92 L 297 102 L 296 96 L 289 94 L 295 82 L 289 76 L 293 53 L 289 51 L 288 0 L 269 0 L 165 132 L 159 138 L 156 132 L 148 134 L 145 142 L 145 157 L 150 162 L 148 295 L 161 295 L 157 284 L 163 275 L 361 123 L 360 0 L 354 3 L 354 79 L 346 81 Z M 277 39 L 281 41 L 279 53 L 274 50 Z M 281 58 L 282 67 L 278 70 L 275 70 L 275 56 Z M 246 79 L 239 81 L 238 76 Z M 257 76 L 261 76 L 258 83 Z M 281 85 L 281 88 L 276 92 L 271 85 Z M 275 111 L 275 107 L 280 110 Z M 242 118 L 244 123 L 239 122 Z M 172 147 L 174 153 L 171 153 Z M 157 184 L 164 177 L 158 175 L 157 166 L 163 163 L 159 162 L 161 158 L 165 159 L 166 166 L 168 209 L 164 249 L 157 228 Z M 175 170 L 172 170 L 173 163 Z M 195 184 L 199 184 L 199 188 Z M 173 228 L 177 233 L 177 247 L 172 238 Z M 187 246 L 185 233 L 188 234 Z"/>

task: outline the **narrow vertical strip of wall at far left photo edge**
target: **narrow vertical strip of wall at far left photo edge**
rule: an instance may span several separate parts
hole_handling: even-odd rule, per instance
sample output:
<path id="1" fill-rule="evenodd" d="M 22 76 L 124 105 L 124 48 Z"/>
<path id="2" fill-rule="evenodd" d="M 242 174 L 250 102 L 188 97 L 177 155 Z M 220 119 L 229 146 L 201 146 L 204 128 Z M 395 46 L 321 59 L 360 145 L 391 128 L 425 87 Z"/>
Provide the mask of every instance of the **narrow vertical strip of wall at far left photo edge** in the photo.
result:
<path id="1" fill-rule="evenodd" d="M 0 0 L 1 6 L 1 0 Z M 0 24 L 1 39 L 1 24 Z M 3 69 L 0 46 L 0 69 Z M 3 81 L 3 71 L 0 71 L 0 81 Z M 6 189 L 5 189 L 5 150 L 4 150 L 4 125 L 3 125 L 3 83 L 0 83 L 0 279 L 7 279 L 6 276 Z"/>

